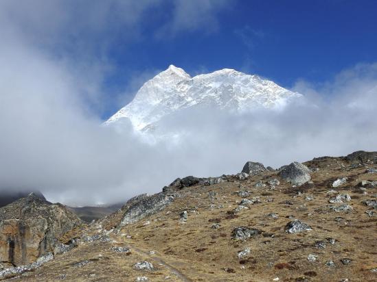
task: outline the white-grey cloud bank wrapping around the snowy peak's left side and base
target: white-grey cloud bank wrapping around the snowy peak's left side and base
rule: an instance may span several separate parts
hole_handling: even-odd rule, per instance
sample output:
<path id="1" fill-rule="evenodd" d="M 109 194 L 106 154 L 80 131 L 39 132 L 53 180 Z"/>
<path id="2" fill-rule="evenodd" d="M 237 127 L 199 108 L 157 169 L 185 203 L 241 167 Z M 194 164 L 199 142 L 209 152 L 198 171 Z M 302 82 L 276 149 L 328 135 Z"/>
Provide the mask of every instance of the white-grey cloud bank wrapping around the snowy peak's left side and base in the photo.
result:
<path id="1" fill-rule="evenodd" d="M 89 11 L 84 2 L 0 3 L 0 190 L 41 190 L 71 205 L 110 203 L 158 192 L 176 177 L 236 173 L 248 160 L 277 167 L 376 150 L 377 64 L 360 64 L 321 85 L 297 81 L 294 89 L 307 101 L 282 112 L 181 112 L 161 120 L 158 131 L 169 138 L 154 144 L 129 123 L 123 133 L 103 127 L 102 81 L 113 67 L 106 42 L 117 40 L 108 31 L 122 31 L 124 42 L 138 40 L 145 14 L 166 4 L 90 1 Z M 226 3 L 206 1 L 199 15 L 216 26 Z M 173 16 L 161 29 L 205 24 L 185 22 L 187 1 L 170 5 Z M 99 38 L 105 43 L 93 47 Z"/>

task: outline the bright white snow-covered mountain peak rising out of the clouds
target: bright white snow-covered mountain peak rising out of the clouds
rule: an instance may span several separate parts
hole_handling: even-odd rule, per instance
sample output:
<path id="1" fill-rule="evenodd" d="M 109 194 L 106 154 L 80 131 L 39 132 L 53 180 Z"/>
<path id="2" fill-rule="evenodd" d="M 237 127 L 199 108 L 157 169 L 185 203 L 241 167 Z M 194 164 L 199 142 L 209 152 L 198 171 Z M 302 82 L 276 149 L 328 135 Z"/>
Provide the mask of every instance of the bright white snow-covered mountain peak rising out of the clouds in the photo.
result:
<path id="1" fill-rule="evenodd" d="M 189 107 L 214 107 L 231 113 L 258 108 L 281 110 L 300 97 L 301 94 L 258 75 L 224 68 L 191 77 L 182 68 L 170 65 L 148 80 L 133 101 L 111 116 L 105 125 L 117 124 L 126 118 L 141 131 L 164 116 Z"/>

